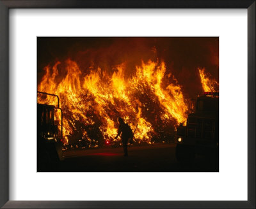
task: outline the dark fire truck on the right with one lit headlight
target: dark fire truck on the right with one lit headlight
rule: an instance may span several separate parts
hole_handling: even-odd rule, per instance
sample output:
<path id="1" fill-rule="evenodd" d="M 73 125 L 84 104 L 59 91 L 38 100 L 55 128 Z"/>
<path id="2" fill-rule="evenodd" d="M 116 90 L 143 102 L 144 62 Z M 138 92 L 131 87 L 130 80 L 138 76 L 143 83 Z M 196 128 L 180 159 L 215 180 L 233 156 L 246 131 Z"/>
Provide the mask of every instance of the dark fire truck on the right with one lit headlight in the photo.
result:
<path id="1" fill-rule="evenodd" d="M 195 154 L 218 160 L 219 93 L 204 92 L 196 98 L 187 124 L 177 127 L 175 138 L 177 161 L 193 161 Z"/>

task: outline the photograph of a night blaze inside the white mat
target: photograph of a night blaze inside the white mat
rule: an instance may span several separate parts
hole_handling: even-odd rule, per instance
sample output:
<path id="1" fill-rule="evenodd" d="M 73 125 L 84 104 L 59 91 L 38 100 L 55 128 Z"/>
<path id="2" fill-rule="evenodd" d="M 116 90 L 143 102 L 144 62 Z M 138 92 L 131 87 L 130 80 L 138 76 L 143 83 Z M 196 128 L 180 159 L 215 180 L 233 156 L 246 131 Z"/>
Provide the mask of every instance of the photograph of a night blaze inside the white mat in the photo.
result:
<path id="1" fill-rule="evenodd" d="M 218 172 L 218 39 L 38 37 L 37 171 Z"/>

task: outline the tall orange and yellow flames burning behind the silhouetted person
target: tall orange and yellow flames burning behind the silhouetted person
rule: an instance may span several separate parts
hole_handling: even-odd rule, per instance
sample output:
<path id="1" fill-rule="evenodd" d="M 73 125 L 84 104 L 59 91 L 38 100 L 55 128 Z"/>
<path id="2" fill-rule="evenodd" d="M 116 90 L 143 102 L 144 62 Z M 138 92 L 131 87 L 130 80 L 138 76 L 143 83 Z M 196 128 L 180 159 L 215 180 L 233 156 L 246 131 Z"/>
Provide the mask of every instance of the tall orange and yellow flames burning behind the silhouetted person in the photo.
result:
<path id="1" fill-rule="evenodd" d="M 118 145 L 120 139 L 114 139 L 118 117 L 136 129 L 134 140 L 138 143 L 172 138 L 175 127 L 186 123 L 189 101 L 175 76 L 166 73 L 164 62 L 141 61 L 129 76 L 125 76 L 125 64 L 115 66 L 111 73 L 92 67 L 83 73 L 70 59 L 64 64 L 65 73 L 61 62 L 46 66 L 38 90 L 60 96 L 66 143 L 83 139 L 88 147 L 105 141 Z M 199 71 L 204 90 L 212 90 L 214 83 L 207 80 L 204 69 Z M 38 103 L 56 105 L 52 97 L 39 94 Z"/>

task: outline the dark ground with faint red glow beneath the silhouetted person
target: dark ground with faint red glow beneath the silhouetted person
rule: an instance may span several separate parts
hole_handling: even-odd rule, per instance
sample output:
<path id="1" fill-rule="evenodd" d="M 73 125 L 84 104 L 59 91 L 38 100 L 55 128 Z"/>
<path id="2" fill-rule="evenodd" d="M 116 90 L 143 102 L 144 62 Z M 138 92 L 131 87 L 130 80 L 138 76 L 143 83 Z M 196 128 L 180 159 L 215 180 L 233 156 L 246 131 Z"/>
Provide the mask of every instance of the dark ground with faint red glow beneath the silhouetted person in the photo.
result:
<path id="1" fill-rule="evenodd" d="M 218 162 L 196 155 L 191 163 L 179 163 L 175 144 L 163 143 L 128 147 L 124 157 L 122 147 L 69 150 L 63 152 L 62 172 L 218 172 Z M 53 171 L 53 170 L 51 170 Z"/>

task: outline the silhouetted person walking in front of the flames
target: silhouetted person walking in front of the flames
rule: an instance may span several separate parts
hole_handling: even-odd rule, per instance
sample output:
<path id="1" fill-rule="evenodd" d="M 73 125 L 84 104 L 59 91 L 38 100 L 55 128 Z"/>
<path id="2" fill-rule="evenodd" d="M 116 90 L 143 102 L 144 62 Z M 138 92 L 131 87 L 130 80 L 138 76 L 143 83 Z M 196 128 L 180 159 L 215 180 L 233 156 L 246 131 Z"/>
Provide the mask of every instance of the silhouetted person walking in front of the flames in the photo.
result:
<path id="1" fill-rule="evenodd" d="M 119 118 L 118 122 L 119 122 L 119 128 L 118 128 L 118 133 L 115 139 L 118 138 L 120 133 L 122 133 L 121 138 L 122 138 L 122 143 L 124 147 L 124 156 L 127 156 L 128 155 L 127 142 L 129 139 L 132 141 L 132 138 L 133 138 L 132 129 L 128 124 L 125 124 L 122 118 Z"/>

